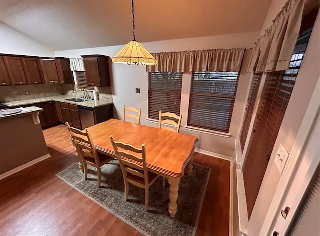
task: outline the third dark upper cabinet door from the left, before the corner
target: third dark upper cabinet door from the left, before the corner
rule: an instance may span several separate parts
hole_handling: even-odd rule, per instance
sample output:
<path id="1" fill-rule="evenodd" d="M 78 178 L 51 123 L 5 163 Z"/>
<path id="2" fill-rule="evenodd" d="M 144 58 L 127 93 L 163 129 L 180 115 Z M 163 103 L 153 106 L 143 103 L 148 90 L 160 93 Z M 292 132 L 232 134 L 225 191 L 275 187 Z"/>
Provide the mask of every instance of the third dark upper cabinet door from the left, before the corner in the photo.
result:
<path id="1" fill-rule="evenodd" d="M 22 57 L 25 76 L 29 84 L 42 84 L 42 70 L 38 58 Z"/>

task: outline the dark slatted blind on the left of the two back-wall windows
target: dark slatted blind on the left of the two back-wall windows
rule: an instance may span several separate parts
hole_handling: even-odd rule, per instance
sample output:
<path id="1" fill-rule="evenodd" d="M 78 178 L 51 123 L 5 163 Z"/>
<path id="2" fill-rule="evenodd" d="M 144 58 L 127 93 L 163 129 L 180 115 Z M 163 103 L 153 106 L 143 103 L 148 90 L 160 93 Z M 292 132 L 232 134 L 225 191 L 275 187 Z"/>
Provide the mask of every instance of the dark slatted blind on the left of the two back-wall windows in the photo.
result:
<path id="1" fill-rule="evenodd" d="M 159 119 L 159 110 L 180 114 L 182 74 L 177 72 L 148 73 L 149 118 Z"/>

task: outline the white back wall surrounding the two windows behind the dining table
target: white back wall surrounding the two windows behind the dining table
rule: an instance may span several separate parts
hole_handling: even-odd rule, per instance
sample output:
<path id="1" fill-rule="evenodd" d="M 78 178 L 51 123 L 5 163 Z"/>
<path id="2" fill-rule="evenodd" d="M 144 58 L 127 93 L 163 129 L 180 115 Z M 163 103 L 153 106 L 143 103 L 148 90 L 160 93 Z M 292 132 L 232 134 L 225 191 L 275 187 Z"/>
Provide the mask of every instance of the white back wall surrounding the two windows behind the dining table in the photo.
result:
<path id="1" fill-rule="evenodd" d="M 217 48 L 251 48 L 254 41 L 259 36 L 259 32 L 238 33 L 218 36 L 208 36 L 200 38 L 176 39 L 167 41 L 157 41 L 143 43 L 149 52 L 171 52 L 185 50 L 204 50 Z M 129 39 L 128 39 L 129 40 Z M 55 56 L 80 57 L 86 54 L 102 54 L 112 57 L 123 46 L 98 47 L 78 50 L 56 51 Z M 246 56 L 245 64 L 249 57 Z M 141 107 L 141 124 L 157 127 L 157 124 L 148 122 L 148 76 L 145 66 L 111 64 L 112 66 L 112 96 L 115 108 L 115 116 L 122 119 L 122 106 Z M 210 154 L 232 157 L 234 152 L 234 137 L 238 135 L 240 120 L 243 111 L 243 104 L 248 88 L 249 75 L 246 68 L 242 69 L 236 102 L 234 105 L 233 116 L 230 125 L 230 138 L 216 135 L 199 133 L 185 130 L 186 125 L 189 91 L 191 83 L 190 73 L 184 73 L 182 79 L 181 113 L 182 128 L 180 132 L 192 134 L 199 138 L 197 148 Z M 140 88 L 140 93 L 135 93 L 135 88 Z"/>

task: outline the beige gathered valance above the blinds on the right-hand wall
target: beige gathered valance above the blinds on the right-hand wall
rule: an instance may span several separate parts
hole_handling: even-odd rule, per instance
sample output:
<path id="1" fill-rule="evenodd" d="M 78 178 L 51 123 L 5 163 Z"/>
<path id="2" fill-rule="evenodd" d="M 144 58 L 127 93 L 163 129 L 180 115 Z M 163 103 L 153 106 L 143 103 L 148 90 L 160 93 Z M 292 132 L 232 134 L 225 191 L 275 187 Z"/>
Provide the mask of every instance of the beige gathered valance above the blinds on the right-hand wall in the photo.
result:
<path id="1" fill-rule="evenodd" d="M 316 7 L 313 1 L 311 7 Z M 249 72 L 280 71 L 289 68 L 290 59 L 299 36 L 302 15 L 309 7 L 307 0 L 288 0 L 253 45 Z M 319 4 L 320 1 L 317 1 Z M 306 7 L 307 5 L 307 7 Z"/>

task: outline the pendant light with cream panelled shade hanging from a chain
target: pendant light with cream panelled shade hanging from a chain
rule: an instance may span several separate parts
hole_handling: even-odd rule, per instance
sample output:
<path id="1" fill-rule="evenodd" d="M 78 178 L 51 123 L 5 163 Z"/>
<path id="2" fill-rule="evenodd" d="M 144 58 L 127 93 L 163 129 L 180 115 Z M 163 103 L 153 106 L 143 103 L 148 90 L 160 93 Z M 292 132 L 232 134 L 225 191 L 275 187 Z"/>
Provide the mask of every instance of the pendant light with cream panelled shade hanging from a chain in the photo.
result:
<path id="1" fill-rule="evenodd" d="M 133 40 L 126 44 L 115 56 L 112 57 L 113 63 L 124 63 L 130 65 L 155 65 L 156 59 L 135 40 L 134 25 L 134 2 L 132 0 L 132 22 L 133 22 Z"/>

